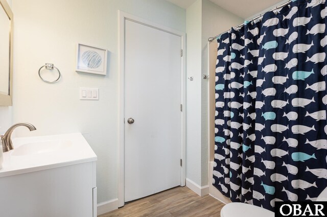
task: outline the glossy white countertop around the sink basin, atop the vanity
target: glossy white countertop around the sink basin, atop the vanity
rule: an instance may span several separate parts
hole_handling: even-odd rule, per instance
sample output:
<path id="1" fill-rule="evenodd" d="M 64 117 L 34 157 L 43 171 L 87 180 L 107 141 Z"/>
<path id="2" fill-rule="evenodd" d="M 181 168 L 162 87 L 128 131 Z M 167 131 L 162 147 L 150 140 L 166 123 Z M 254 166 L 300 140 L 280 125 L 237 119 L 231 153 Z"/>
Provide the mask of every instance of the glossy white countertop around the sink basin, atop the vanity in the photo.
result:
<path id="1" fill-rule="evenodd" d="M 56 143 L 62 141 L 59 147 L 53 151 L 32 153 L 27 155 L 15 155 L 15 149 L 22 145 L 29 148 L 33 144 L 45 142 Z M 85 163 L 97 160 L 97 155 L 81 133 L 21 137 L 13 139 L 14 149 L 4 153 L 3 168 L 0 169 L 0 177 L 13 176 L 35 171 L 48 170 L 51 168 Z M 26 149 L 25 149 L 26 150 Z"/>

